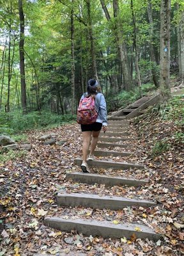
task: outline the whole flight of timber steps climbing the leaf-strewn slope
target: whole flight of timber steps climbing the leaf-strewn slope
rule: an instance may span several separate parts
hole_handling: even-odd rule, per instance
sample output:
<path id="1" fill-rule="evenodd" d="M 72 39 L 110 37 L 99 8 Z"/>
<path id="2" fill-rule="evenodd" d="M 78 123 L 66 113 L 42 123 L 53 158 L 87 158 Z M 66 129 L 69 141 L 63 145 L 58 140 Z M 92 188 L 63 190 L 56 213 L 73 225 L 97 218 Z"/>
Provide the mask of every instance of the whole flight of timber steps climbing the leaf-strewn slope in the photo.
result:
<path id="1" fill-rule="evenodd" d="M 128 121 L 125 119 L 119 119 L 110 121 L 108 126 L 108 132 L 104 134 L 101 132 L 100 141 L 98 142 L 98 149 L 95 152 L 95 156 L 100 157 L 95 161 L 88 161 L 89 166 L 93 168 L 103 168 L 111 170 L 135 170 L 144 169 L 142 164 L 127 163 L 119 161 L 111 161 L 108 157 L 131 157 L 134 156 L 134 152 L 131 148 L 131 140 L 128 138 Z M 105 140 L 104 140 L 105 138 Z M 116 140 L 115 140 L 116 139 Z M 103 141 L 103 142 L 102 142 Z M 126 144 L 125 144 L 126 143 Z M 105 148 L 103 150 L 102 148 Z M 110 150 L 109 150 L 110 148 Z M 111 148 L 118 148 L 114 151 Z M 131 151 L 122 151 L 122 148 L 127 148 Z M 105 160 L 102 159 L 105 157 Z M 81 165 L 82 160 L 80 158 L 75 159 L 75 164 Z M 111 172 L 110 172 L 111 173 Z M 139 187 L 148 184 L 148 180 L 134 179 L 122 177 L 120 175 L 101 175 L 98 173 L 82 173 L 82 172 L 68 172 L 66 173 L 66 180 L 71 182 L 78 182 L 79 184 L 104 184 L 108 186 L 109 190 L 113 186 L 127 186 Z M 61 207 L 77 207 L 84 208 L 91 207 L 93 209 L 112 209 L 114 211 L 121 210 L 125 207 L 132 207 L 132 205 L 138 205 L 139 207 L 150 207 L 156 205 L 155 202 L 144 199 L 125 198 L 121 196 L 109 196 L 109 195 L 96 195 L 90 194 L 90 191 L 86 193 L 66 193 L 65 191 L 59 191 L 56 196 L 56 202 Z M 86 236 L 102 236 L 102 237 L 114 237 L 121 238 L 136 236 L 141 239 L 153 239 L 158 241 L 160 235 L 155 233 L 150 227 L 142 225 L 140 223 L 113 223 L 113 221 L 99 221 L 94 220 L 93 216 L 88 219 L 79 219 L 72 216 L 72 218 L 63 218 L 62 216 L 47 217 L 44 220 L 45 225 L 71 232 L 71 230 L 77 230 Z"/>

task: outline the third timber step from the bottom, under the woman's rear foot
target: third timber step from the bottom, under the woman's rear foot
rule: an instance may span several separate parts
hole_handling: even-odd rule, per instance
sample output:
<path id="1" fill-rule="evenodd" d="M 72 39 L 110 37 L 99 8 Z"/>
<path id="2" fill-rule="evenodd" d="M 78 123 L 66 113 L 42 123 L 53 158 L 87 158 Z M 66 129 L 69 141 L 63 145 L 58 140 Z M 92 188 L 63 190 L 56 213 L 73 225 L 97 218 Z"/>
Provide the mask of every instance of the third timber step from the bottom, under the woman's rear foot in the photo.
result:
<path id="1" fill-rule="evenodd" d="M 66 179 L 72 179 L 74 182 L 86 184 L 105 184 L 106 186 L 111 187 L 117 185 L 138 187 L 141 186 L 142 184 L 148 184 L 148 180 L 136 180 L 127 177 L 112 177 L 107 175 L 83 172 L 66 173 Z"/>

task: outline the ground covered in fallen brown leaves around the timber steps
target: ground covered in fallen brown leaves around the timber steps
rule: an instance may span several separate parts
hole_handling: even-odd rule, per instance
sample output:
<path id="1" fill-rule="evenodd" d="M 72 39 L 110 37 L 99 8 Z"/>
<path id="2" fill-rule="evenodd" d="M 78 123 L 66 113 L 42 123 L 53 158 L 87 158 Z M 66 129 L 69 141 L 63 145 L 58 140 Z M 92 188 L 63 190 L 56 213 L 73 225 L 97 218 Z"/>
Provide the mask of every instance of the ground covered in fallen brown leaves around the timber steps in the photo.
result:
<path id="1" fill-rule="evenodd" d="M 173 122 L 161 122 L 160 118 L 137 121 L 131 126 L 131 157 L 108 157 L 113 161 L 143 163 L 145 170 L 97 170 L 94 173 L 122 175 L 137 179 L 149 179 L 149 184 L 139 188 L 102 185 L 87 185 L 65 180 L 66 172 L 81 171 L 73 165 L 73 159 L 81 156 L 81 132 L 76 124 L 63 125 L 52 129 L 59 145 L 45 146 L 38 140 L 43 131 L 27 133 L 33 145 L 30 152 L 17 159 L 1 164 L 0 186 L 4 212 L 4 230 L 1 232 L 0 255 L 181 255 L 183 247 L 183 144 L 174 141 L 172 134 L 176 129 Z M 150 152 L 155 140 L 167 136 L 171 147 L 160 156 L 153 157 Z M 130 143 L 130 141 L 129 141 Z M 104 148 L 103 148 L 104 149 Z M 122 148 L 115 148 L 122 150 Z M 103 157 L 99 157 L 103 159 Z M 121 211 L 86 209 L 85 207 L 59 207 L 55 195 L 59 191 L 67 193 L 94 193 L 98 195 L 126 196 L 144 198 L 157 202 L 156 207 L 125 207 Z M 54 230 L 43 225 L 45 216 L 63 218 L 83 218 L 107 220 L 114 223 L 138 223 L 152 227 L 163 235 L 159 241 L 142 241 L 132 236 L 121 239 L 103 239 Z"/>

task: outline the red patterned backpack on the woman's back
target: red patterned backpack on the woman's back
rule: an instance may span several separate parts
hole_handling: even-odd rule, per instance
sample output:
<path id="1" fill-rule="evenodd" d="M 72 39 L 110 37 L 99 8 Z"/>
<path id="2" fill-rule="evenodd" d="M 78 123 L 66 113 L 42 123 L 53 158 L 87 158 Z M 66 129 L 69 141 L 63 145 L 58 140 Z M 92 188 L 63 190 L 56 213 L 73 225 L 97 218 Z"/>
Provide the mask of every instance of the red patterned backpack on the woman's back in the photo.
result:
<path id="1" fill-rule="evenodd" d="M 98 113 L 95 109 L 95 97 L 90 95 L 81 99 L 77 109 L 77 123 L 93 124 L 96 122 L 97 116 Z"/>

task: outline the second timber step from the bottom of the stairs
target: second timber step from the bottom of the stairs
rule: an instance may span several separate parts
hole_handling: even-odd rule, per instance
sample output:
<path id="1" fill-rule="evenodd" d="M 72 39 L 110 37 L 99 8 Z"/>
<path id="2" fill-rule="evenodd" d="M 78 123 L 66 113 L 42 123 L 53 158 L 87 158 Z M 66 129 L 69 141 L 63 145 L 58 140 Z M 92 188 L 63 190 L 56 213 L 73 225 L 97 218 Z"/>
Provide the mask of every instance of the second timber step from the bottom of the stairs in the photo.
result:
<path id="1" fill-rule="evenodd" d="M 112 209 L 121 210 L 127 206 L 138 205 L 150 207 L 156 205 L 155 202 L 148 200 L 129 199 L 121 196 L 98 196 L 81 193 L 58 193 L 56 196 L 57 204 L 69 207 L 84 206 L 93 209 Z"/>

